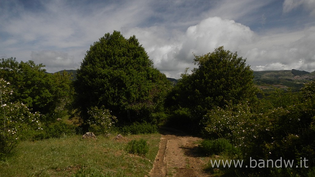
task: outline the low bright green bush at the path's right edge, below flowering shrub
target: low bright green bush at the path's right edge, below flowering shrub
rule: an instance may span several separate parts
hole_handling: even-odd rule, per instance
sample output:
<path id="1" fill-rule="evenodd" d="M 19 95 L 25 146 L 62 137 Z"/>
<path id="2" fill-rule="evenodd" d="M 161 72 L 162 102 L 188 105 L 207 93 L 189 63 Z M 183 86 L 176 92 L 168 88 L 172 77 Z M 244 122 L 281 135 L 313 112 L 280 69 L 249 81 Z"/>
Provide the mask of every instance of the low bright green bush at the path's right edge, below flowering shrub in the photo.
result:
<path id="1" fill-rule="evenodd" d="M 238 155 L 240 151 L 234 147 L 229 140 L 220 138 L 217 140 L 203 140 L 198 146 L 199 152 L 202 155 L 219 155 L 219 154 L 229 154 Z"/>

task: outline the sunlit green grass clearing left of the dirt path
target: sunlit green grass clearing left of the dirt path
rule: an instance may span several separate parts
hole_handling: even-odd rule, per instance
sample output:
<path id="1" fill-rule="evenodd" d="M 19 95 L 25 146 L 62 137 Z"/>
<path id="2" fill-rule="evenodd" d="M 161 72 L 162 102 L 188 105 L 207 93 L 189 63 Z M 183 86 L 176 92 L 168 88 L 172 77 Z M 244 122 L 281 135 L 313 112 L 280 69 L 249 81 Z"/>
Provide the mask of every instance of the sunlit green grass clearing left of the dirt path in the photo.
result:
<path id="1" fill-rule="evenodd" d="M 144 176 L 153 167 L 160 134 L 115 135 L 82 140 L 80 135 L 36 142 L 24 141 L 16 153 L 0 162 L 0 174 L 7 176 Z M 144 139 L 150 149 L 145 157 L 126 152 L 131 140 Z"/>

